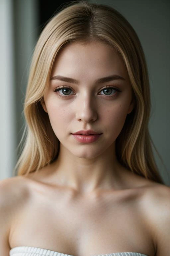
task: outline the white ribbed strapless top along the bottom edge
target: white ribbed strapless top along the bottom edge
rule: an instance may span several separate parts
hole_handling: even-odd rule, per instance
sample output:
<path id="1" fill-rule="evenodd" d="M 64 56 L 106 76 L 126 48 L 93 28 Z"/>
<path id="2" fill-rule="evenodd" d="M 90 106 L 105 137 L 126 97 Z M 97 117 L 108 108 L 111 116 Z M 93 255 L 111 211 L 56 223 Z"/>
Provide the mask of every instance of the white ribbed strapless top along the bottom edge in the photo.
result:
<path id="1" fill-rule="evenodd" d="M 9 252 L 10 256 L 74 256 L 69 254 L 64 254 L 61 252 L 55 252 L 39 247 L 31 246 L 18 246 L 14 247 Z M 90 255 L 90 256 L 148 256 L 138 252 L 117 252 L 109 254 L 100 254 L 100 255 Z"/>

